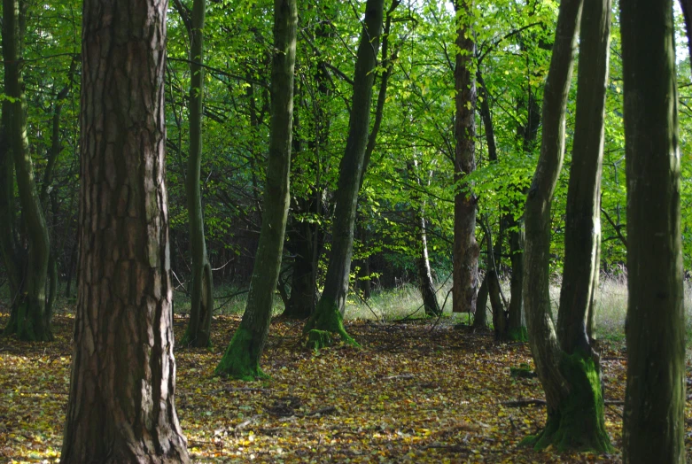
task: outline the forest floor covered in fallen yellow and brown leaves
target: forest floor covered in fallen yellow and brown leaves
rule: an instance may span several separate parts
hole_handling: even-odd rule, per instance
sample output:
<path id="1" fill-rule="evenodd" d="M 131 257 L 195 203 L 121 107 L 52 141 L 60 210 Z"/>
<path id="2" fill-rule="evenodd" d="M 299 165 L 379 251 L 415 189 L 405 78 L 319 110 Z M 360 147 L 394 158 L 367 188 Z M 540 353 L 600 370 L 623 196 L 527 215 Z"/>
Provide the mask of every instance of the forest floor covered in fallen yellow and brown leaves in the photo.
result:
<path id="1" fill-rule="evenodd" d="M 6 320 L 0 314 L 0 325 Z M 177 339 L 185 322 L 175 319 Z M 544 406 L 510 403 L 543 398 L 536 378 L 511 375 L 532 365 L 526 344 L 444 322 L 354 321 L 347 330 L 362 350 L 310 352 L 300 346 L 300 323 L 276 320 L 262 364 L 270 380 L 213 377 L 238 323 L 215 319 L 211 350 L 176 351 L 176 405 L 196 462 L 621 460 L 619 452 L 557 455 L 518 445 L 545 421 Z M 0 460 L 58 461 L 72 324 L 56 316 L 51 344 L 0 338 Z M 602 360 L 606 426 L 619 448 L 625 355 L 606 344 Z M 689 420 L 687 427 L 689 438 Z"/>

